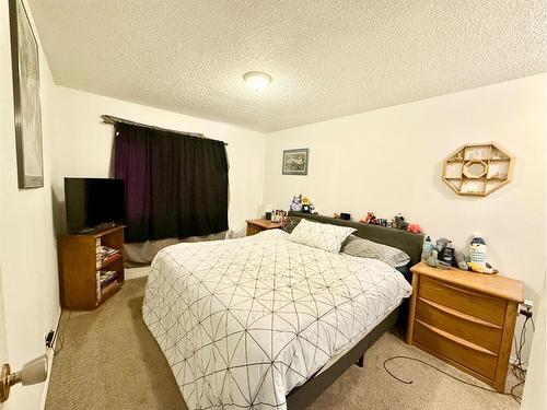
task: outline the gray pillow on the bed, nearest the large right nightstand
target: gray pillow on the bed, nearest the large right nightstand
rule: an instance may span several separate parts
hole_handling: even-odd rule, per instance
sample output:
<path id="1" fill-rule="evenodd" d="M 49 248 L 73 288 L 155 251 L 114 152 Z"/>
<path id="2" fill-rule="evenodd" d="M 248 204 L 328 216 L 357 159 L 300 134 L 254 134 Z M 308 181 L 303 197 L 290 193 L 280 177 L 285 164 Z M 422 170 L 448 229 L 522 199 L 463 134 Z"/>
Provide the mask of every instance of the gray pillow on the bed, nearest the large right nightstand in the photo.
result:
<path id="1" fill-rule="evenodd" d="M 344 243 L 341 253 L 361 258 L 382 260 L 393 268 L 403 267 L 410 261 L 410 257 L 400 249 L 363 239 L 356 235 L 348 236 Z"/>

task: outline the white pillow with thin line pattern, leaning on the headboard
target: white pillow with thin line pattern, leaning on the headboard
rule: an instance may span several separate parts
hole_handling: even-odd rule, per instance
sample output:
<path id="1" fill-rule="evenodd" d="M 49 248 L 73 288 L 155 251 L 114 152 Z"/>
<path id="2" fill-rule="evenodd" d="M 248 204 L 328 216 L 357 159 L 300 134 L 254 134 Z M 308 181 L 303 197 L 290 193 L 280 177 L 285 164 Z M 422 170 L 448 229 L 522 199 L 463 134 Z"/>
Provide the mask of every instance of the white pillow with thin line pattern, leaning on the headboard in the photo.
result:
<path id="1" fill-rule="evenodd" d="M 356 229 L 349 226 L 316 223 L 303 219 L 291 232 L 288 239 L 296 244 L 338 254 L 342 242 L 356 231 Z"/>

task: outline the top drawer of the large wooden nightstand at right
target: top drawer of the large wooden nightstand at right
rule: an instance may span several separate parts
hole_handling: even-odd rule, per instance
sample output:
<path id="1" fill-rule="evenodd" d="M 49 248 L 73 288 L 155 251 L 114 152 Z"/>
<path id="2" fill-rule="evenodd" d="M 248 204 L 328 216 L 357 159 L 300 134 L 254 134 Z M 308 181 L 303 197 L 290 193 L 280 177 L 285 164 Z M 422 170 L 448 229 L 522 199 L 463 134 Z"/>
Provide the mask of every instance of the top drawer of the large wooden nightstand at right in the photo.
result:
<path id="1" fill-rule="evenodd" d="M 418 297 L 499 326 L 503 325 L 505 317 L 507 301 L 444 284 L 424 276 L 420 278 Z"/>

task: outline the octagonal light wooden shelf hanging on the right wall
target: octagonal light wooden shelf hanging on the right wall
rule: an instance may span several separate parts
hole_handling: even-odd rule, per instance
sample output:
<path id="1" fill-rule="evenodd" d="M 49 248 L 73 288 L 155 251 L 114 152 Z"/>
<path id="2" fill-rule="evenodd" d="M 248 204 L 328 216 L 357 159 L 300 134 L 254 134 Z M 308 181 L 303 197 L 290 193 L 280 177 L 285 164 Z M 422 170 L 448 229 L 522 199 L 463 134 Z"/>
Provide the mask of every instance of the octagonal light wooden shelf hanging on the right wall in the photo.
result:
<path id="1" fill-rule="evenodd" d="M 466 144 L 444 160 L 443 180 L 459 195 L 487 196 L 509 184 L 514 156 L 494 142 Z"/>

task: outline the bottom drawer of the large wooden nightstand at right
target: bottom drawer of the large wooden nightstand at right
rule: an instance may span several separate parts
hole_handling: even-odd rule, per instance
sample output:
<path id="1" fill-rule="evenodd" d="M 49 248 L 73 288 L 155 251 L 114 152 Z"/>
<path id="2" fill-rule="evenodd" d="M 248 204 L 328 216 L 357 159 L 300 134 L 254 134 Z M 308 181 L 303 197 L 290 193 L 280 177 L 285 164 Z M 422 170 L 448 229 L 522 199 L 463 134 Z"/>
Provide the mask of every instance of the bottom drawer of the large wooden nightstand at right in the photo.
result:
<path id="1" fill-rule="evenodd" d="M 423 325 L 416 320 L 414 330 L 414 341 L 426 349 L 447 358 L 472 371 L 493 378 L 496 375 L 496 365 L 498 355 L 488 353 L 473 343 L 466 343 L 456 337 L 453 337 L 443 330 L 429 325 Z"/>

